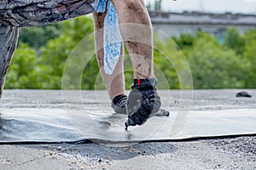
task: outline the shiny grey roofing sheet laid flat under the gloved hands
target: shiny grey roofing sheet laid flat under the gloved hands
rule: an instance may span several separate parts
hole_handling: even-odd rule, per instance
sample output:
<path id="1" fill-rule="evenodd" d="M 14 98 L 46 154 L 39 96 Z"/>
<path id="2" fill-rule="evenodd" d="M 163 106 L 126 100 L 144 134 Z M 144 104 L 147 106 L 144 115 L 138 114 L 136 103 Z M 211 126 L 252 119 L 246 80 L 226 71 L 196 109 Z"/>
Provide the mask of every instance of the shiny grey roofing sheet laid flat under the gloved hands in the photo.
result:
<path id="1" fill-rule="evenodd" d="M 151 117 L 141 127 L 125 131 L 125 115 L 97 110 L 2 109 L 0 143 L 75 142 L 84 139 L 104 142 L 137 142 L 256 134 L 256 110 L 189 111 L 177 122 L 177 112 Z"/>

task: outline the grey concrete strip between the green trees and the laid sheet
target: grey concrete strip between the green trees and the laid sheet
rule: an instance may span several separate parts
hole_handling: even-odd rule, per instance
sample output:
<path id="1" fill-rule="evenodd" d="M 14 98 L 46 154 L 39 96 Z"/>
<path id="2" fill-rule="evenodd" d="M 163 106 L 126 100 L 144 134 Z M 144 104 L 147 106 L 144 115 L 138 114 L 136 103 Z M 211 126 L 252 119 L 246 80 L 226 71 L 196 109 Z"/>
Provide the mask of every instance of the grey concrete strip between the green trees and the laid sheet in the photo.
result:
<path id="1" fill-rule="evenodd" d="M 244 91 L 244 89 L 194 90 L 190 110 L 255 109 L 256 90 L 246 90 L 248 94 L 252 95 L 252 98 L 236 98 L 236 94 L 241 91 Z M 73 90 L 69 92 L 73 93 Z M 189 91 L 183 91 L 183 93 L 190 94 Z M 160 90 L 163 107 L 170 111 L 177 111 L 180 106 L 180 94 L 180 90 Z M 83 103 L 76 102 L 75 99 L 63 101 L 61 90 L 4 90 L 0 105 L 2 109 L 22 107 L 84 109 L 84 105 L 89 108 L 90 106 L 110 108 L 110 100 L 108 99 L 107 92 L 104 90 L 83 90 L 81 91 L 81 96 L 75 97 L 77 99 L 82 98 Z"/>

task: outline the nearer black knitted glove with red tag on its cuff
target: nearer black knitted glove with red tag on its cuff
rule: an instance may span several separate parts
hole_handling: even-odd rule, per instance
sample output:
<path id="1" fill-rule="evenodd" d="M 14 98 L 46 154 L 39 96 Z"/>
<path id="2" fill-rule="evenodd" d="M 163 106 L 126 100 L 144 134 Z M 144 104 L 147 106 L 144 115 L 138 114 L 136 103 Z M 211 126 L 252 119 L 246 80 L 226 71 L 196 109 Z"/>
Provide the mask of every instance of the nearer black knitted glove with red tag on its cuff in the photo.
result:
<path id="1" fill-rule="evenodd" d="M 160 105 L 156 79 L 134 79 L 127 102 L 126 129 L 129 126 L 142 125 L 150 116 L 154 116 L 154 113 L 160 110 Z"/>

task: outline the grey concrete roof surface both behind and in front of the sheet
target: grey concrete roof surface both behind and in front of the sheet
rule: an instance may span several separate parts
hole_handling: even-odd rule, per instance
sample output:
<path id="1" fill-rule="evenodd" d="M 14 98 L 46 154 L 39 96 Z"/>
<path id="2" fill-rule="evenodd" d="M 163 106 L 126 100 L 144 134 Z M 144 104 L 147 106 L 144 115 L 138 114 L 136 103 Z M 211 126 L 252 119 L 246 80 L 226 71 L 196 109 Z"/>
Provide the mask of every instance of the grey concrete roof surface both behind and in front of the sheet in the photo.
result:
<path id="1" fill-rule="evenodd" d="M 195 90 L 192 110 L 253 109 L 252 98 L 236 98 L 241 90 Z M 84 103 L 91 103 L 95 92 L 82 92 Z M 101 92 L 104 98 L 104 92 Z M 161 91 L 164 100 L 165 91 Z M 178 108 L 178 91 L 171 91 L 171 110 Z M 38 96 L 41 96 L 38 98 Z M 90 99 L 91 98 L 91 99 Z M 108 99 L 102 105 L 109 107 Z M 60 108 L 61 91 L 7 90 L 2 108 Z M 69 105 L 69 106 L 72 106 Z M 165 104 L 166 106 L 166 104 Z M 256 121 L 256 120 L 255 120 Z M 2 144 L 0 169 L 256 169 L 256 136 L 201 139 L 183 142 L 141 144 Z"/>

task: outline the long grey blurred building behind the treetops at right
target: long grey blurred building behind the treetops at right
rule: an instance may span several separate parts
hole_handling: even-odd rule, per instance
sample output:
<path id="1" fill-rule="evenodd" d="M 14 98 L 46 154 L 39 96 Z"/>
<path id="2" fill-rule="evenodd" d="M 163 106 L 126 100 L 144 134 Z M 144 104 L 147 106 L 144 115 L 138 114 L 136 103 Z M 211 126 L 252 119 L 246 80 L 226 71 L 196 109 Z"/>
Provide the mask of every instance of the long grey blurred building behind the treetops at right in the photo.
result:
<path id="1" fill-rule="evenodd" d="M 196 31 L 207 31 L 222 42 L 224 32 L 235 26 L 241 34 L 256 28 L 256 14 L 212 14 L 200 12 L 166 13 L 149 12 L 154 28 L 168 36 L 179 37 L 182 33 L 194 35 Z"/>

